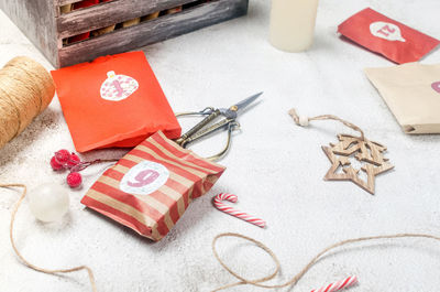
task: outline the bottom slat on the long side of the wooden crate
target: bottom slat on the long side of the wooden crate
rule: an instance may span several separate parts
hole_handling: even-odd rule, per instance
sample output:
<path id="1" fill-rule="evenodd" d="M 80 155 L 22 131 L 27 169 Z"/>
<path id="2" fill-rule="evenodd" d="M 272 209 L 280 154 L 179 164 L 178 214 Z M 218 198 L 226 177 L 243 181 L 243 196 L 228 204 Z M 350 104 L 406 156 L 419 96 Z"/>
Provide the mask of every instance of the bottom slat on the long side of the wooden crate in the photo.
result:
<path id="1" fill-rule="evenodd" d="M 59 50 L 59 66 L 69 66 L 108 54 L 164 41 L 197 29 L 244 15 L 248 0 L 217 0 L 176 14 L 161 17 Z"/>

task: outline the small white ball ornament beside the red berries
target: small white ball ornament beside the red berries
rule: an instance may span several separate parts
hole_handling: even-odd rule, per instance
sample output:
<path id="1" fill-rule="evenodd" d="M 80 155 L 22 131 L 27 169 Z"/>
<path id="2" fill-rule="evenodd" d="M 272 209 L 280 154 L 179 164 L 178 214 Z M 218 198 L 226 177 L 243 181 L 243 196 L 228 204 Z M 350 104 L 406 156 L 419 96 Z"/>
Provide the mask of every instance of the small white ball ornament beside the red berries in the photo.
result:
<path id="1" fill-rule="evenodd" d="M 67 191 L 54 183 L 46 183 L 29 192 L 29 207 L 38 220 L 50 223 L 59 220 L 69 208 Z"/>

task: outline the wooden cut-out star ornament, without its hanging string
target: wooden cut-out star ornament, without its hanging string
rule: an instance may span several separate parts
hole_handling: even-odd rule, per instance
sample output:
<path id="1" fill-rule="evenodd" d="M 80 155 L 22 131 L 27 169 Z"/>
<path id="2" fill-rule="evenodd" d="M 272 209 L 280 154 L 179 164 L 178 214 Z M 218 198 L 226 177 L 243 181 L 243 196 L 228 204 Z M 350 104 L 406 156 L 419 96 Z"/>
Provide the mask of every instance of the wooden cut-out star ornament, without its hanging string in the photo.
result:
<path id="1" fill-rule="evenodd" d="M 353 137 L 349 134 L 339 134 L 337 144 L 330 143 L 330 147 L 322 147 L 323 152 L 331 162 L 331 167 L 327 172 L 326 181 L 352 181 L 366 192 L 374 195 L 375 176 L 394 169 L 384 158 L 386 147 L 370 141 L 365 138 Z M 354 169 L 350 158 L 361 162 L 361 169 Z M 342 172 L 338 172 L 339 169 Z M 366 181 L 362 180 L 360 172 L 366 173 Z"/>

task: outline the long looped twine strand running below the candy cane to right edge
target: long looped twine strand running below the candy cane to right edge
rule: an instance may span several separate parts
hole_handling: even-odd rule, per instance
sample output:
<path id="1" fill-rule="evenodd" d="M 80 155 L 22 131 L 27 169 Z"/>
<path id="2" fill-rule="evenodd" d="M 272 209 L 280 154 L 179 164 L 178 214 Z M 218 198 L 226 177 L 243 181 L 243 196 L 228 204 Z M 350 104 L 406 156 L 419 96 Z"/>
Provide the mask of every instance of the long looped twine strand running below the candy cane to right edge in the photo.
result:
<path id="1" fill-rule="evenodd" d="M 222 237 L 237 237 L 237 238 L 242 238 L 244 240 L 251 241 L 254 245 L 256 245 L 258 248 L 263 249 L 265 252 L 267 252 L 271 258 L 274 260 L 276 269 L 273 273 L 257 279 L 257 280 L 250 280 L 246 279 L 240 274 L 238 274 L 237 272 L 232 271 L 231 268 L 229 268 L 219 257 L 219 253 L 217 252 L 217 248 L 216 248 L 216 244 L 217 240 L 219 238 Z M 285 288 L 285 286 L 289 286 L 289 285 L 295 285 L 310 269 L 311 267 L 314 267 L 319 259 L 322 258 L 323 255 L 328 253 L 329 251 L 337 249 L 339 247 L 342 246 L 346 246 L 350 244 L 355 244 L 355 242 L 361 242 L 361 241 L 371 241 L 371 240 L 377 240 L 377 239 L 396 239 L 396 238 L 428 238 L 428 239 L 433 239 L 433 240 L 438 240 L 440 241 L 440 237 L 438 236 L 433 236 L 433 235 L 427 235 L 427 234 L 396 234 L 396 235 L 383 235 L 383 236 L 370 236 L 370 237 L 359 237 L 359 238 L 352 238 L 352 239 L 345 239 L 342 241 L 339 241 L 337 244 L 333 244 L 327 248 L 324 248 L 322 251 L 320 251 L 317 256 L 315 256 L 315 258 L 312 258 L 295 277 L 293 277 L 289 281 L 283 283 L 283 284 L 274 284 L 274 285 L 270 285 L 270 284 L 263 284 L 263 282 L 266 282 L 268 280 L 274 279 L 279 270 L 279 261 L 276 258 L 275 253 L 265 245 L 263 245 L 261 241 L 255 240 L 253 238 L 246 237 L 244 235 L 240 235 L 240 234 L 233 234 L 233 232 L 226 232 L 226 234 L 220 234 L 218 236 L 215 237 L 215 239 L 212 240 L 212 252 L 213 256 L 216 257 L 216 259 L 218 260 L 218 262 L 221 264 L 221 267 L 223 267 L 224 270 L 227 270 L 230 274 L 232 274 L 234 278 L 239 279 L 239 282 L 235 283 L 231 283 L 231 284 L 227 284 L 227 285 L 222 285 L 216 290 L 213 290 L 212 292 L 216 291 L 220 291 L 220 290 L 224 290 L 231 286 L 235 286 L 235 285 L 242 285 L 242 284 L 249 284 L 249 285 L 254 285 L 254 286 L 258 286 L 258 288 L 263 288 L 263 289 L 277 289 L 277 288 Z"/>

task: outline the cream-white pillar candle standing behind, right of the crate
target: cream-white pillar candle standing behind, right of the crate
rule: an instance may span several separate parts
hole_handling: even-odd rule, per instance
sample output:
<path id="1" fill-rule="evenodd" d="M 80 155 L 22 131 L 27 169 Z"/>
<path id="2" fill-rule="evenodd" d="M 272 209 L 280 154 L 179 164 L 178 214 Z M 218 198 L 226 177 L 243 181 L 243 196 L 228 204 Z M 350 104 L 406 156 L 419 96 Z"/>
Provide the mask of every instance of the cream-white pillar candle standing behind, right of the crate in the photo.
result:
<path id="1" fill-rule="evenodd" d="M 272 0 L 271 43 L 287 52 L 301 52 L 314 42 L 318 0 Z"/>

